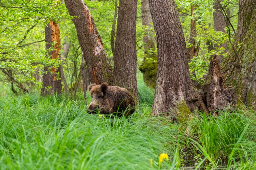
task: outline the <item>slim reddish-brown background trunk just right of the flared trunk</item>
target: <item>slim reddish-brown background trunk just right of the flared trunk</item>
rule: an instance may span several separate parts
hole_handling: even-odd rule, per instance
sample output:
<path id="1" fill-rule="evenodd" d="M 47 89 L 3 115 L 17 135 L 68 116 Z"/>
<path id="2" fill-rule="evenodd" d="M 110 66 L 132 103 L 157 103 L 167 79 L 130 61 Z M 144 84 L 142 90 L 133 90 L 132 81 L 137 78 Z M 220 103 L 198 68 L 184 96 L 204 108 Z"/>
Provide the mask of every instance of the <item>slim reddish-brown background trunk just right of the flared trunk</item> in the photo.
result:
<path id="1" fill-rule="evenodd" d="M 193 17 L 195 15 L 194 13 L 194 6 L 191 5 L 191 16 Z M 190 21 L 190 36 L 188 40 L 189 48 L 187 48 L 187 58 L 190 62 L 191 59 L 195 56 L 197 57 L 199 46 L 197 45 L 195 41 L 195 36 L 197 35 L 196 31 L 196 19 L 191 19 Z"/>

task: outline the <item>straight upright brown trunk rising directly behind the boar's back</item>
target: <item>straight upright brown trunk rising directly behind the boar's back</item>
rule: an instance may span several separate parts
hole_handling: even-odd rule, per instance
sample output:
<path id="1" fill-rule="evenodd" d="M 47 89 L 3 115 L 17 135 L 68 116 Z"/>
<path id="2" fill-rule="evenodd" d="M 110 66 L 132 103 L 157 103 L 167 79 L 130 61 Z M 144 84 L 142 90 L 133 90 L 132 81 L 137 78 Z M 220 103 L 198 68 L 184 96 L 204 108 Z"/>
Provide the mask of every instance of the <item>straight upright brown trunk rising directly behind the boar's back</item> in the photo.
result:
<path id="1" fill-rule="evenodd" d="M 137 0 L 119 1 L 112 85 L 126 88 L 138 101 L 136 16 Z"/>

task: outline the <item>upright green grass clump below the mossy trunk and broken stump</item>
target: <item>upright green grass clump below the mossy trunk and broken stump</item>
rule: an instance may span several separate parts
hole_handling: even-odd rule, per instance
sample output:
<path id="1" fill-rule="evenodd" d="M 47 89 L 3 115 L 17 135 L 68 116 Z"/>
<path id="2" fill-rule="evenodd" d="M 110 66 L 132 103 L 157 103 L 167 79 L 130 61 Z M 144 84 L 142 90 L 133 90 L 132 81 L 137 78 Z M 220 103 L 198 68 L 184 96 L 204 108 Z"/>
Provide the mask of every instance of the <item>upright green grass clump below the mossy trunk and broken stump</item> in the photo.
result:
<path id="1" fill-rule="evenodd" d="M 191 141 L 196 143 L 196 147 L 213 165 L 228 164 L 229 169 L 232 161 L 247 163 L 256 158 L 256 152 L 251 152 L 256 137 L 255 113 L 236 110 L 231 113 L 220 112 L 219 116 L 202 114 L 189 123 L 195 130 L 194 133 L 197 133 L 200 144 Z M 245 153 L 247 158 L 244 157 Z"/>

